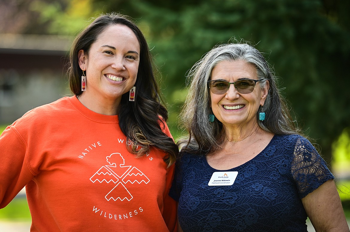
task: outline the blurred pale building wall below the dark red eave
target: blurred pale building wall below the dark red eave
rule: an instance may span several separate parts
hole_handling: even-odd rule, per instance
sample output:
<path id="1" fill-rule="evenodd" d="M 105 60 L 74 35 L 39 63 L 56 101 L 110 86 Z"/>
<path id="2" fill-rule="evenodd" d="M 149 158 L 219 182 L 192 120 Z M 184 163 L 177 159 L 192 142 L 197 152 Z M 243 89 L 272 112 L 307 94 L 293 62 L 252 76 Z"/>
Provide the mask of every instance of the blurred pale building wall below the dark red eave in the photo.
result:
<path id="1" fill-rule="evenodd" d="M 71 96 L 63 71 L 0 69 L 0 125 L 67 95 Z"/>

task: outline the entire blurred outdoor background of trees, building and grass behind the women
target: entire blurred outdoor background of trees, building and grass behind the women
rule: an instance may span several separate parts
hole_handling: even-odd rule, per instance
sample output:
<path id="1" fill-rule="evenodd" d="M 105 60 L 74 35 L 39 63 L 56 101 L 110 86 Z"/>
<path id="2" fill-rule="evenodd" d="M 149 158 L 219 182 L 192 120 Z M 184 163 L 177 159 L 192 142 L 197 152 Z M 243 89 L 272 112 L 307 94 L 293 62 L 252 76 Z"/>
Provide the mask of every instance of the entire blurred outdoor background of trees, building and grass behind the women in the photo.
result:
<path id="1" fill-rule="evenodd" d="M 101 13 L 129 15 L 144 32 L 175 140 L 186 134 L 177 116 L 187 71 L 213 46 L 243 39 L 274 68 L 293 117 L 336 176 L 350 218 L 349 9 L 343 0 L 0 0 L 0 132 L 70 95 L 71 42 Z M 0 210 L 0 220 L 27 226 L 25 194 Z"/>

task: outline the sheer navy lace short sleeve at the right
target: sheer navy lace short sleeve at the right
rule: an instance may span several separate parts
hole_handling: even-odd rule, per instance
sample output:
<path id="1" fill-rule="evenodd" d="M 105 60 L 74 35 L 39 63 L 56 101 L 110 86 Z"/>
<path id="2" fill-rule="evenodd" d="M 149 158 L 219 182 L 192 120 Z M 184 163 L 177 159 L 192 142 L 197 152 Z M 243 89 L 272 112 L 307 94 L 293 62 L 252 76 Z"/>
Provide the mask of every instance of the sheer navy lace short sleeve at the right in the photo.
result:
<path id="1" fill-rule="evenodd" d="M 334 179 L 323 158 L 303 137 L 296 139 L 291 170 L 300 198 L 313 192 L 325 181 Z"/>

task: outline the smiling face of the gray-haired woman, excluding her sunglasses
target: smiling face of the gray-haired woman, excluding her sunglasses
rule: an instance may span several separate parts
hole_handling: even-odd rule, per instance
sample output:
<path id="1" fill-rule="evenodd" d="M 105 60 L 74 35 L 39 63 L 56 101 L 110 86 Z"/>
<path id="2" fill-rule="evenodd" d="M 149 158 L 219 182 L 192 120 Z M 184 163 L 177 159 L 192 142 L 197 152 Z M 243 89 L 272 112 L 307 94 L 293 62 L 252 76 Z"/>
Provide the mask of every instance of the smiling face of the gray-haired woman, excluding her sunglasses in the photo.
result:
<path id="1" fill-rule="evenodd" d="M 240 79 L 258 80 L 254 65 L 245 61 L 221 61 L 212 69 L 210 80 L 236 82 Z M 239 93 L 233 84 L 227 92 L 214 94 L 210 91 L 211 108 L 215 117 L 224 126 L 254 126 L 257 112 L 264 105 L 267 88 L 261 89 L 259 82 L 251 93 Z"/>

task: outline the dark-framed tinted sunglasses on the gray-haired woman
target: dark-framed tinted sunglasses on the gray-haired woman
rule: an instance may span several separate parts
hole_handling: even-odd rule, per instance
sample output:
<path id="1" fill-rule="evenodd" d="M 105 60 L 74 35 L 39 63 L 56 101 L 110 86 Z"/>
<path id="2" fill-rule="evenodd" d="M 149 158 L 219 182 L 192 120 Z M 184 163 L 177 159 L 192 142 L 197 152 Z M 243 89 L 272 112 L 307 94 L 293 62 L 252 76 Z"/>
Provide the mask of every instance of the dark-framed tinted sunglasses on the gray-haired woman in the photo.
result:
<path id="1" fill-rule="evenodd" d="M 235 85 L 235 88 L 239 93 L 251 93 L 254 90 L 255 84 L 258 81 L 263 81 L 265 79 L 266 78 L 263 78 L 260 80 L 243 79 L 232 83 L 228 81 L 223 81 L 223 80 L 212 80 L 212 81 L 207 81 L 207 83 L 210 88 L 210 91 L 214 94 L 224 94 L 229 90 L 230 84 Z"/>

